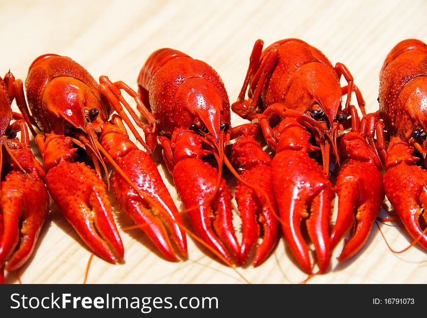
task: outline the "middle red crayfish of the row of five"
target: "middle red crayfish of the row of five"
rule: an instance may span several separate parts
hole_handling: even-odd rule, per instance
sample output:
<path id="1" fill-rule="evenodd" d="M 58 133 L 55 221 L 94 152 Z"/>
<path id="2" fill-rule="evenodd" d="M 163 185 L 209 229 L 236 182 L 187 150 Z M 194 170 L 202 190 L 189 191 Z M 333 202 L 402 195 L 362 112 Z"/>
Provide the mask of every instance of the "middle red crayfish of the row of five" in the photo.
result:
<path id="1" fill-rule="evenodd" d="M 218 74 L 178 50 L 161 49 L 148 57 L 138 85 L 141 100 L 156 117 L 164 160 L 197 235 L 223 261 L 232 263 L 234 258 L 240 264 L 262 226 L 264 241 L 254 258 L 254 265 L 261 264 L 277 240 L 272 189 L 266 182 L 270 158 L 254 141 L 253 127 L 231 129 L 230 102 Z M 241 176 L 225 155 L 230 135 L 241 136 L 231 150 L 234 164 L 245 171 Z M 210 154 L 216 158 L 217 170 L 206 162 Z M 223 163 L 240 183 L 236 200 L 243 223 L 241 246 L 232 224 L 232 196 L 222 179 Z M 261 189 L 263 183 L 266 187 Z"/>

